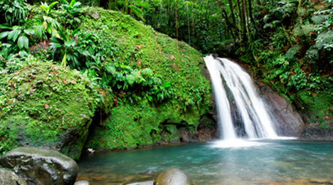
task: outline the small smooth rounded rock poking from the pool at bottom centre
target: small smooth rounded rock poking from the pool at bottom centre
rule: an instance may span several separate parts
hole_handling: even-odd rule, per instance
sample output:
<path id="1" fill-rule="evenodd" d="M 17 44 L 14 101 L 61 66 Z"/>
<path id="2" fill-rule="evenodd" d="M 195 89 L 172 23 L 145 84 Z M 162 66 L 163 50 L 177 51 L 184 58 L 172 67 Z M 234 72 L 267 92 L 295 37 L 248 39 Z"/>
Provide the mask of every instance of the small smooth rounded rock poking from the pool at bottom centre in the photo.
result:
<path id="1" fill-rule="evenodd" d="M 169 168 L 157 176 L 154 185 L 194 185 L 194 182 L 184 171 Z"/>

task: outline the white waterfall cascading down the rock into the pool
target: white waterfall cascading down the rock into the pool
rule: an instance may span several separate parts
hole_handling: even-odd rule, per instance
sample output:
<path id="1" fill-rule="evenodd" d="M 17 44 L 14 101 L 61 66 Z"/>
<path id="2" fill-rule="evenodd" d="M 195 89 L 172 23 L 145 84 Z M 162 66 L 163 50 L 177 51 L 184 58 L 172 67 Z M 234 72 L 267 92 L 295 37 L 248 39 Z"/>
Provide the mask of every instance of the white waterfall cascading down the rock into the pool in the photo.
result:
<path id="1" fill-rule="evenodd" d="M 223 139 L 276 138 L 273 123 L 263 100 L 255 93 L 250 75 L 226 58 L 206 56 L 203 59 L 211 74 Z"/>

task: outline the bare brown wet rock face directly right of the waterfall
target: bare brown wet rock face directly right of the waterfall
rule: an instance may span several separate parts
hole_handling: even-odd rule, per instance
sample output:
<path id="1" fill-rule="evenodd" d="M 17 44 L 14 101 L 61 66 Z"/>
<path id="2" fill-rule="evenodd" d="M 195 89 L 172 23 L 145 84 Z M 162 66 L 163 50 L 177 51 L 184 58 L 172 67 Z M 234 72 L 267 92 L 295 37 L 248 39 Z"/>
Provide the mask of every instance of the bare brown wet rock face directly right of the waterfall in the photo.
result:
<path id="1" fill-rule="evenodd" d="M 285 97 L 279 95 L 266 85 L 259 85 L 261 96 L 265 98 L 270 107 L 275 125 L 276 132 L 280 136 L 300 137 L 304 126 L 304 121 L 299 112 L 295 109 Z"/>

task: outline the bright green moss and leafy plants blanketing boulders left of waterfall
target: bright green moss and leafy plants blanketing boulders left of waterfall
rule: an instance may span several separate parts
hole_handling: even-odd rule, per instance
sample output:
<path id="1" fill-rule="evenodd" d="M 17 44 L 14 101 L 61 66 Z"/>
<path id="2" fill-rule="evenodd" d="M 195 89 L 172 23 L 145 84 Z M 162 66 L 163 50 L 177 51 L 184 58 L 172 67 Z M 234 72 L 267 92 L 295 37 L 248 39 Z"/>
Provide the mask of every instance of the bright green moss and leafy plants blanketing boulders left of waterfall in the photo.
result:
<path id="1" fill-rule="evenodd" d="M 49 144 L 77 158 L 94 115 L 88 147 L 172 141 L 176 127 L 195 129 L 211 109 L 201 54 L 184 42 L 75 0 L 0 5 L 0 141 L 13 141 L 1 152 Z M 82 135 L 76 150 L 57 145 L 63 132 Z"/>

